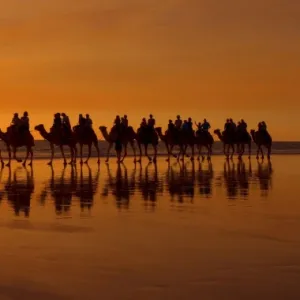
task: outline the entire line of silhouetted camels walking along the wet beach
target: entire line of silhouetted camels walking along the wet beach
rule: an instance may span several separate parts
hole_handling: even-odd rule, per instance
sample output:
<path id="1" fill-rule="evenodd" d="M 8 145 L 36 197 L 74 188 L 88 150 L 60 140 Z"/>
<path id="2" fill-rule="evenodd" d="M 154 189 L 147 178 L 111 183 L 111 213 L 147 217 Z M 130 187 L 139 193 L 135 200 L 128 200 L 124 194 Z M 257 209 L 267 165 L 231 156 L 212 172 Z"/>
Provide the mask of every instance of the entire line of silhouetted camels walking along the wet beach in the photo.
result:
<path id="1" fill-rule="evenodd" d="M 63 114 L 66 117 L 65 114 Z M 87 115 L 88 116 L 88 115 Z M 80 163 L 88 163 L 91 157 L 92 146 L 95 147 L 97 151 L 97 163 L 100 164 L 100 150 L 98 146 L 98 138 L 94 130 L 92 129 L 92 121 L 87 118 L 83 118 L 80 115 L 79 125 L 70 127 L 70 123 L 67 123 L 67 129 L 64 130 L 64 123 L 61 119 L 60 114 L 55 115 L 54 125 L 51 130 L 48 132 L 45 129 L 43 124 L 39 124 L 34 127 L 34 129 L 39 132 L 39 134 L 49 142 L 51 157 L 48 162 L 49 165 L 52 165 L 54 158 L 54 148 L 58 146 L 60 148 L 63 163 L 67 164 L 66 155 L 64 153 L 64 146 L 67 146 L 70 149 L 71 160 L 70 164 L 76 164 L 77 162 L 77 145 L 80 149 Z M 68 120 L 68 119 L 67 119 Z M 90 125 L 83 125 L 83 120 L 89 121 Z M 152 119 L 153 120 L 153 119 Z M 143 121 L 146 121 L 143 119 Z M 178 121 L 178 120 L 176 120 Z M 175 126 L 176 126 L 175 121 Z M 206 121 L 206 120 L 205 120 Z M 127 121 L 128 122 L 128 121 Z M 135 131 L 131 126 L 123 126 L 122 123 L 115 123 L 115 125 L 108 131 L 107 127 L 100 126 L 99 130 L 102 133 L 103 138 L 108 143 L 108 149 L 106 153 L 106 162 L 109 162 L 110 152 L 113 145 L 116 145 L 116 152 L 119 153 L 118 162 L 123 162 L 127 156 L 128 144 L 131 146 L 134 156 L 134 162 L 141 162 L 143 156 L 143 150 L 145 156 L 150 162 L 156 162 L 157 160 L 157 151 L 159 140 L 161 140 L 167 150 L 167 161 L 170 161 L 171 157 L 177 158 L 177 160 L 183 160 L 184 157 L 190 157 L 191 160 L 194 160 L 195 157 L 195 147 L 198 150 L 197 159 L 204 160 L 205 155 L 202 152 L 202 149 L 206 149 L 206 157 L 209 160 L 212 155 L 212 148 L 214 144 L 214 138 L 209 133 L 208 129 L 202 130 L 200 125 L 198 130 L 195 132 L 190 126 L 191 130 L 180 129 L 177 130 L 176 127 L 170 127 L 172 121 L 170 121 L 168 130 L 163 132 L 161 127 L 154 127 L 155 122 L 152 126 L 147 126 L 147 123 L 141 124 L 141 127 Z M 199 123 L 200 124 L 200 123 Z M 262 123 L 260 123 L 262 124 Z M 183 126 L 186 124 L 183 124 Z M 226 124 L 225 124 L 226 125 Z M 57 126 L 57 127 L 55 127 Z M 225 126 L 226 127 L 226 126 Z M 184 127 L 180 127 L 184 128 Z M 267 157 L 270 159 L 271 148 L 272 148 L 272 138 L 266 130 L 251 130 L 250 133 L 247 130 L 239 132 L 238 130 L 224 130 L 223 132 L 220 129 L 214 130 L 214 134 L 219 138 L 223 143 L 223 152 L 226 158 L 233 158 L 233 155 L 236 153 L 238 158 L 241 159 L 245 153 L 245 148 L 248 148 L 248 157 L 251 156 L 251 145 L 254 142 L 257 145 L 257 154 L 256 158 L 264 158 L 263 147 L 267 149 Z M 29 160 L 28 165 L 32 165 L 33 160 L 33 147 L 34 147 L 34 138 L 28 130 L 19 132 L 16 130 L 16 125 L 13 124 L 7 128 L 6 132 L 1 131 L 0 129 L 0 139 L 5 143 L 8 151 L 8 163 L 7 166 L 10 166 L 11 160 L 15 159 L 17 162 L 23 162 L 25 166 Z M 117 144 L 119 148 L 117 149 Z M 135 144 L 138 146 L 138 153 L 136 151 Z M 83 146 L 88 147 L 88 155 L 85 161 L 83 161 Z M 149 146 L 153 148 L 153 154 L 150 155 L 148 152 Z M 26 157 L 22 161 L 17 157 L 17 149 L 20 147 L 26 147 Z M 174 148 L 178 148 L 178 152 L 174 153 Z M 187 153 L 188 148 L 190 148 L 191 154 Z M 121 155 L 122 153 L 122 155 Z M 0 162 L 4 166 L 4 161 L 0 152 Z"/>

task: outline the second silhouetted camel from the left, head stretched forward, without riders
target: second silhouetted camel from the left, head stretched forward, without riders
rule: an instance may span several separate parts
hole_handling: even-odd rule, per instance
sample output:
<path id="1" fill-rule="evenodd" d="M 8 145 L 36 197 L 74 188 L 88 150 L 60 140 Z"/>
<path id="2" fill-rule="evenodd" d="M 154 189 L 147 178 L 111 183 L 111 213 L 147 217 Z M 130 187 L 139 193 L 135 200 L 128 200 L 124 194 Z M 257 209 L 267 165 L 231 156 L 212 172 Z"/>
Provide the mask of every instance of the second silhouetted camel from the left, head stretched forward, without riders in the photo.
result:
<path id="1" fill-rule="evenodd" d="M 52 165 L 53 158 L 54 158 L 54 146 L 59 146 L 62 157 L 64 159 L 64 165 L 67 164 L 67 160 L 65 157 L 65 152 L 63 146 L 69 146 L 70 147 L 70 152 L 71 152 L 71 161 L 70 163 L 76 163 L 76 154 L 77 154 L 77 149 L 76 149 L 76 140 L 74 138 L 69 138 L 69 139 L 63 139 L 60 134 L 54 134 L 54 133 L 49 133 L 46 131 L 45 126 L 43 124 L 37 125 L 34 128 L 37 130 L 40 135 L 47 140 L 50 143 L 50 148 L 51 148 L 51 159 L 48 162 L 48 165 Z"/>

